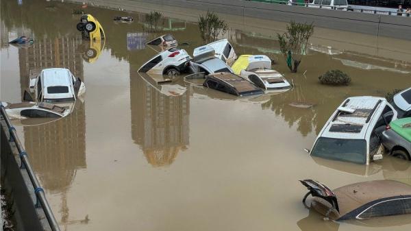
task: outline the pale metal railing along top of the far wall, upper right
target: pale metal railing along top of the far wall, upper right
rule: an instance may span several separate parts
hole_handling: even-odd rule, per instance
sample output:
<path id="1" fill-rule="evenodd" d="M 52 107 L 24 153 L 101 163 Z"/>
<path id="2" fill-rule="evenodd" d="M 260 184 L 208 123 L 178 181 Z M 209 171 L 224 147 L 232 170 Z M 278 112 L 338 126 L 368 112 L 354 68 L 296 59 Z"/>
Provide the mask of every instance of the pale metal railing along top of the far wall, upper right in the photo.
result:
<path id="1" fill-rule="evenodd" d="M 345 11 L 352 11 L 352 12 L 361 12 L 366 14 L 384 14 L 384 15 L 392 15 L 392 16 L 407 16 L 410 17 L 411 13 L 406 12 L 397 12 L 395 9 L 393 10 L 379 10 L 373 9 L 374 7 L 367 6 L 353 6 L 353 5 L 321 5 L 321 4 L 312 4 L 312 3 L 297 3 L 297 2 L 290 2 L 288 0 L 246 0 L 246 1 L 256 1 L 261 3 L 276 3 L 282 5 L 295 5 L 300 7 L 306 8 L 320 8 L 320 9 L 327 9 L 327 10 L 345 10 Z"/>

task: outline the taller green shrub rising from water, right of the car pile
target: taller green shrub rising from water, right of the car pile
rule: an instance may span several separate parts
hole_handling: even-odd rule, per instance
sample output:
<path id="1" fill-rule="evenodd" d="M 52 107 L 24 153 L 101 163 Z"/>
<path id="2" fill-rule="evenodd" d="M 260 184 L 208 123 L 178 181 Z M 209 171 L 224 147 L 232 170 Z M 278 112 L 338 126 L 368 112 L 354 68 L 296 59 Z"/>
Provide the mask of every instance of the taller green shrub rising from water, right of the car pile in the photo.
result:
<path id="1" fill-rule="evenodd" d="M 312 23 L 295 23 L 294 21 L 287 25 L 286 33 L 277 34 L 279 49 L 281 49 L 291 72 L 297 72 L 312 34 L 314 34 L 314 25 Z"/>

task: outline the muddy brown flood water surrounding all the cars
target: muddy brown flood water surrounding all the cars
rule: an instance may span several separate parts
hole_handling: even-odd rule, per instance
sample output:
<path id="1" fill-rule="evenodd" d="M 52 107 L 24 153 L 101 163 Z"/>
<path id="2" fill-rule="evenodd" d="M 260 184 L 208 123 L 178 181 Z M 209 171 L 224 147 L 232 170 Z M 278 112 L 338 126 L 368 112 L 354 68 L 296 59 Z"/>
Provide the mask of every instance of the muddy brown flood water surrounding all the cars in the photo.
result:
<path id="1" fill-rule="evenodd" d="M 385 157 L 351 165 L 303 151 L 346 97 L 411 85 L 410 41 L 316 28 L 292 74 L 273 39 L 284 23 L 226 16 L 225 37 L 236 53 L 277 60 L 273 68 L 295 88 L 238 99 L 179 80 L 186 90 L 169 96 L 137 73 L 155 55 L 144 44 L 172 33 L 192 53 L 201 45 L 197 12 L 165 11 L 171 18 L 164 18 L 164 32 L 147 34 L 142 13 L 88 7 L 106 34 L 103 51 L 89 59 L 90 42 L 72 15 L 79 5 L 18 2 L 1 1 L 1 101 L 22 100 L 31 70 L 66 67 L 86 84 L 84 101 L 68 117 L 18 127 L 62 230 L 411 229 L 411 216 L 323 221 L 303 207 L 306 189 L 298 182 L 312 178 L 331 189 L 380 179 L 411 184 L 411 162 Z M 134 23 L 112 21 L 128 15 Z M 34 37 L 34 45 L 8 45 L 21 35 Z M 319 84 L 329 69 L 348 73 L 351 85 Z M 295 106 L 301 103 L 312 106 Z"/>

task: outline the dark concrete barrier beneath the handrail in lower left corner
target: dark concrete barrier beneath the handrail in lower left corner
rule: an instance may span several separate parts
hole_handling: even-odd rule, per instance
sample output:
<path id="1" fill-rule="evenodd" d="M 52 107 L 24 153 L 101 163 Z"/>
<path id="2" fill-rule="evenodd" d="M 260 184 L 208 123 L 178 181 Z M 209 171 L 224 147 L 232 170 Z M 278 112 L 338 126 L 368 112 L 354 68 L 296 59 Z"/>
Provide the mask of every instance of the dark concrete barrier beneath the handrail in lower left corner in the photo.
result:
<path id="1" fill-rule="evenodd" d="M 14 230 L 49 231 L 51 230 L 45 212 L 36 208 L 36 196 L 27 171 L 20 168 L 20 158 L 14 143 L 9 142 L 8 126 L 0 116 L 1 133 L 1 187 L 8 196 L 14 212 Z"/>

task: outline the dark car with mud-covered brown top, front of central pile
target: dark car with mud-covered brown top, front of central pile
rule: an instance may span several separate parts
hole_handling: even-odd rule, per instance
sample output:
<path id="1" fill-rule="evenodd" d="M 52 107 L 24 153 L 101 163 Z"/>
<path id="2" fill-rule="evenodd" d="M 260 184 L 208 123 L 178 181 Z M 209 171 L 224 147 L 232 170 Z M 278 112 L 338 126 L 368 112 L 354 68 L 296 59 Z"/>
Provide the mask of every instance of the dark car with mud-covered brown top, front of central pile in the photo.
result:
<path id="1" fill-rule="evenodd" d="M 203 86 L 236 96 L 260 95 L 258 86 L 233 73 L 214 73 L 206 76 Z"/>

